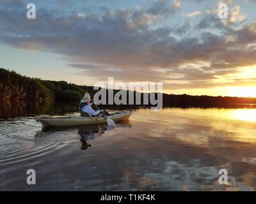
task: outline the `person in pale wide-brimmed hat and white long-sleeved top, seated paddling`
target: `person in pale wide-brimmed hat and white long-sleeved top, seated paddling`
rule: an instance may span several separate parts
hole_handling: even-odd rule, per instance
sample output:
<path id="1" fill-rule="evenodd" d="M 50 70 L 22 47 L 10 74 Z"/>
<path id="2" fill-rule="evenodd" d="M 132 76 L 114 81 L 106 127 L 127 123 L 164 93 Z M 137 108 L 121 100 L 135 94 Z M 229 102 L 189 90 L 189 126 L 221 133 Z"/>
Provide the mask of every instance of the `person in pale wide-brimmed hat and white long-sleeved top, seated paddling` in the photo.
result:
<path id="1" fill-rule="evenodd" d="M 109 115 L 109 113 L 106 110 L 93 110 L 92 108 L 93 105 L 95 105 L 95 103 L 92 102 L 90 94 L 85 93 L 83 99 L 81 99 L 78 105 L 81 116 L 92 117 L 92 116 L 98 116 L 101 113 L 103 113 L 104 115 Z"/>

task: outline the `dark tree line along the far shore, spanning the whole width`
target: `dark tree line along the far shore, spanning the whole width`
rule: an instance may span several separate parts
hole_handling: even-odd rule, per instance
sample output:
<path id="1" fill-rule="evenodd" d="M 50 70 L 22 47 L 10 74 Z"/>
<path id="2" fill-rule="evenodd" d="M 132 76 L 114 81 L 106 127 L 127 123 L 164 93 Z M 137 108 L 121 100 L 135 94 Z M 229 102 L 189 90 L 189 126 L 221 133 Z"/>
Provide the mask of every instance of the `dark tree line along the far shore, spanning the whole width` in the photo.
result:
<path id="1" fill-rule="evenodd" d="M 93 86 L 25 77 L 15 71 L 0 68 L 1 103 L 22 102 L 38 105 L 53 102 L 78 103 L 83 98 L 84 92 L 93 96 L 97 90 L 93 90 Z M 114 94 L 116 92 L 118 90 L 114 90 Z M 229 106 L 232 104 L 256 104 L 256 98 L 163 94 L 164 106 Z"/>

